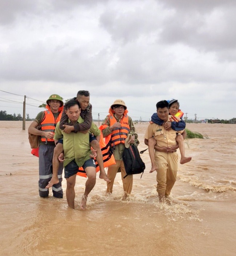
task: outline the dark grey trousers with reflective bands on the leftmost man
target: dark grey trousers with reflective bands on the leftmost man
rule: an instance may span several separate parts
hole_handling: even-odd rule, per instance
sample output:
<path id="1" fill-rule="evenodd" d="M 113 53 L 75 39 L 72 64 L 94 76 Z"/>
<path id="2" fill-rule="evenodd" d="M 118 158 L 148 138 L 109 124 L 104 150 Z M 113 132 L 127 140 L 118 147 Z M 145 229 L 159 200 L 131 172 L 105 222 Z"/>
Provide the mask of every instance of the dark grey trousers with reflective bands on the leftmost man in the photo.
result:
<path id="1" fill-rule="evenodd" d="M 41 197 L 49 195 L 49 189 L 45 188 L 49 181 L 52 179 L 52 158 L 54 152 L 54 145 L 40 145 L 39 146 L 39 181 L 38 192 Z M 63 190 L 61 186 L 62 182 L 63 163 L 60 163 L 58 169 L 59 183 L 52 186 L 53 196 L 62 198 Z"/>

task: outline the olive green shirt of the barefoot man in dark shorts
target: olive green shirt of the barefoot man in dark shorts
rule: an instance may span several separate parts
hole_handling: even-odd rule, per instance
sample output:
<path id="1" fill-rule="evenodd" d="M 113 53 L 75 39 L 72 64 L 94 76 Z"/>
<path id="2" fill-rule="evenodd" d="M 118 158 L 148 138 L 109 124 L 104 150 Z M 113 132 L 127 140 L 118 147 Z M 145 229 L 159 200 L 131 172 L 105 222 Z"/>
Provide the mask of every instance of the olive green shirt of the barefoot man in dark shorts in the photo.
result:
<path id="1" fill-rule="evenodd" d="M 83 122 L 84 119 L 82 119 L 80 116 L 77 120 L 77 123 L 81 124 Z M 97 125 L 95 125 L 93 122 L 90 128 L 90 132 L 93 133 L 94 136 L 99 136 L 101 134 Z M 54 140 L 61 139 L 62 137 L 64 150 L 64 167 L 74 159 L 79 167 L 83 166 L 84 163 L 90 159 L 89 155 L 91 154 L 89 133 L 65 133 L 60 129 L 60 122 L 58 122 L 55 129 Z"/>

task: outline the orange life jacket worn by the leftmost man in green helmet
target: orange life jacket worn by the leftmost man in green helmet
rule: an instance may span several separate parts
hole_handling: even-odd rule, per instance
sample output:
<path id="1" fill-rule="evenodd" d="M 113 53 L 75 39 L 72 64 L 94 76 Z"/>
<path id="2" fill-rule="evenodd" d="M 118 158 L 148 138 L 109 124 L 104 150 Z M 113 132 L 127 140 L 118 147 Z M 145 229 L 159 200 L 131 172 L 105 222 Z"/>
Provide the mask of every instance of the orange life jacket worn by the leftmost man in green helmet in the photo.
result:
<path id="1" fill-rule="evenodd" d="M 60 107 L 58 109 L 58 112 L 60 112 L 60 114 L 58 115 L 57 119 L 55 119 L 52 111 L 50 111 L 49 105 L 46 105 L 46 110 L 44 111 L 45 117 L 41 122 L 41 130 L 44 132 L 54 132 L 57 123 L 61 119 L 62 111 L 63 111 L 63 107 Z M 45 136 L 41 136 L 41 141 L 54 141 L 54 140 L 46 139 Z"/>

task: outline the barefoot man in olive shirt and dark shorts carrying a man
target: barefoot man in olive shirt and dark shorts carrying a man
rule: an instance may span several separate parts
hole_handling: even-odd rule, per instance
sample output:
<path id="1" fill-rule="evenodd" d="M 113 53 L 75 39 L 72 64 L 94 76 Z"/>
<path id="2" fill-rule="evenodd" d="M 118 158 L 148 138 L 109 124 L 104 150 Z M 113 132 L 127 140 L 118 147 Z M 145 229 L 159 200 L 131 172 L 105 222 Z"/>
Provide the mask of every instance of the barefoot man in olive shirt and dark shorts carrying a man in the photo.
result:
<path id="1" fill-rule="evenodd" d="M 64 109 L 69 118 L 69 122 L 73 125 L 83 123 L 84 119 L 80 116 L 81 108 L 78 101 L 69 100 Z M 92 123 L 90 132 L 100 140 L 100 130 Z M 85 184 L 85 192 L 82 196 L 80 208 L 85 209 L 86 201 L 89 193 L 96 183 L 96 165 L 94 159 L 90 157 L 91 147 L 89 144 L 89 133 L 65 133 L 60 129 L 60 123 L 57 124 L 54 140 L 57 141 L 63 137 L 64 149 L 64 172 L 66 179 L 66 199 L 70 208 L 74 209 L 76 174 L 79 167 L 83 167 L 88 177 Z M 53 171 L 53 177 L 57 176 L 57 170 Z M 50 187 L 49 184 L 47 187 Z"/>

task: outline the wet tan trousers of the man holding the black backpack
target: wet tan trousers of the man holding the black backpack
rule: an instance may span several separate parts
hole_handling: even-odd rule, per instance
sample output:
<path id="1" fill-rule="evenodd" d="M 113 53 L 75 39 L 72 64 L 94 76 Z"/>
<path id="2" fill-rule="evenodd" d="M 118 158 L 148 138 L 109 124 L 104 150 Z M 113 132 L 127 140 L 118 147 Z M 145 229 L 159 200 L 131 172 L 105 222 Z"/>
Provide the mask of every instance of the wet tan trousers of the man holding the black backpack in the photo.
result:
<path id="1" fill-rule="evenodd" d="M 115 160 L 116 164 L 110 165 L 107 170 L 107 177 L 111 181 L 107 182 L 107 193 L 112 193 L 113 184 L 115 176 L 119 168 L 121 168 L 121 178 L 123 182 L 123 189 L 129 195 L 133 188 L 133 175 L 128 175 L 125 179 L 123 178 L 126 175 L 125 166 L 122 160 Z"/>

